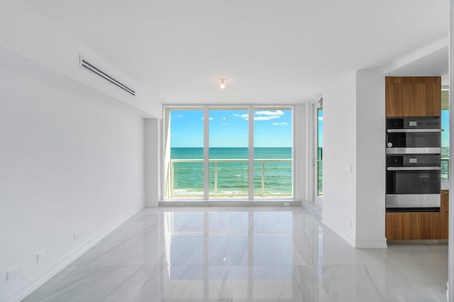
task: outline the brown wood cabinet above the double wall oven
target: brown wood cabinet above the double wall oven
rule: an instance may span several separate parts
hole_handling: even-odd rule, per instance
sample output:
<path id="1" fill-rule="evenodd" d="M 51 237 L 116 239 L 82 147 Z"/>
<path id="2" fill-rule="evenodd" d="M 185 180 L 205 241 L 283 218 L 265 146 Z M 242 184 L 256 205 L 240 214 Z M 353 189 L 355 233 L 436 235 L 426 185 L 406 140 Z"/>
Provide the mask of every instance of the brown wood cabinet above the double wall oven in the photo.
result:
<path id="1" fill-rule="evenodd" d="M 386 77 L 386 116 L 440 116 L 441 77 Z"/>

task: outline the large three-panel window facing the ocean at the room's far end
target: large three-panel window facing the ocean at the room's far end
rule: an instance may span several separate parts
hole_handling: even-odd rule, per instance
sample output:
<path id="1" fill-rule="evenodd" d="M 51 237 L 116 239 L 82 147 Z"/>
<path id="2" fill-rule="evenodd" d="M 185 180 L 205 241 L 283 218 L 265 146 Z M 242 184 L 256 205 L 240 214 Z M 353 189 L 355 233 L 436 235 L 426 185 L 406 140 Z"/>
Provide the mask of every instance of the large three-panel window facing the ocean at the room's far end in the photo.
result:
<path id="1" fill-rule="evenodd" d="M 164 124 L 165 199 L 293 197 L 292 106 L 166 106 Z"/>

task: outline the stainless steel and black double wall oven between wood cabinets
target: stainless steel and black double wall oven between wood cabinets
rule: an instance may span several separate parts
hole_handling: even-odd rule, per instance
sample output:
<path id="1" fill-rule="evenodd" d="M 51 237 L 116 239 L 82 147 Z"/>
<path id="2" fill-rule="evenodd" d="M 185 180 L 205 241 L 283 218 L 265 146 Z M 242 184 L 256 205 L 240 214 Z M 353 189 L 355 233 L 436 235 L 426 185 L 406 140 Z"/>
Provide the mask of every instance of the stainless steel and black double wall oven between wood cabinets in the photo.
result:
<path id="1" fill-rule="evenodd" d="M 441 120 L 387 118 L 387 211 L 439 211 Z"/>

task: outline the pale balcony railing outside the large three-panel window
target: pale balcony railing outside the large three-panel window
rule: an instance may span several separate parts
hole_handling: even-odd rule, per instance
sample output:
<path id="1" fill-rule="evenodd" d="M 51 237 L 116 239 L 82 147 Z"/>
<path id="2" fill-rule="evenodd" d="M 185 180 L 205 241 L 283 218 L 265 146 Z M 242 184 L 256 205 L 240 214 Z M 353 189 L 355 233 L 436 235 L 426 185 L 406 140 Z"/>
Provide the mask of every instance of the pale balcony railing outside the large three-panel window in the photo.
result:
<path id="1" fill-rule="evenodd" d="M 167 196 L 170 198 L 175 198 L 175 164 L 177 163 L 203 163 L 204 160 L 170 160 L 170 169 L 169 173 L 167 174 L 167 181 L 170 181 L 170 186 L 166 186 L 167 188 Z M 211 171 L 214 172 L 214 189 L 213 192 L 210 192 L 210 196 L 214 196 L 214 198 L 217 197 L 228 197 L 230 196 L 229 194 L 223 194 L 222 192 L 218 191 L 218 164 L 219 163 L 234 163 L 234 162 L 248 162 L 248 159 L 210 159 L 209 163 L 213 163 L 213 170 L 210 169 Z M 265 163 L 270 163 L 270 162 L 289 162 L 292 163 L 291 159 L 255 159 L 255 163 L 260 163 L 261 167 L 261 188 L 260 188 L 260 194 L 257 194 L 258 196 L 265 198 L 265 196 L 272 196 L 272 197 L 292 197 L 292 191 L 289 191 L 289 193 L 270 193 L 266 194 L 265 191 Z M 211 166 L 211 165 L 210 165 Z M 291 181 L 292 177 L 290 177 Z M 245 192 L 245 196 L 247 197 L 247 192 Z M 256 194 L 254 194 L 256 195 Z M 256 195 L 256 196 L 257 196 Z M 181 197 L 181 196 L 177 196 Z M 189 196 L 185 196 L 189 197 Z"/>

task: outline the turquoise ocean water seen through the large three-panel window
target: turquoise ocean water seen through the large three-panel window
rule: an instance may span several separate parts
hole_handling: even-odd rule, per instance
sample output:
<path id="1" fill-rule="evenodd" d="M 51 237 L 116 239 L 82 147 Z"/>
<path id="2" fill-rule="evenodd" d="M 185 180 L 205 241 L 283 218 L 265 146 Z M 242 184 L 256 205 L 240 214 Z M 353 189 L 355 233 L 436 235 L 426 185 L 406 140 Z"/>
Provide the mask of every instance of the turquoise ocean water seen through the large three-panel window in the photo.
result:
<path id="1" fill-rule="evenodd" d="M 174 162 L 174 197 L 203 196 L 203 148 L 172 148 Z M 254 149 L 254 195 L 259 197 L 292 196 L 292 148 L 258 147 Z M 209 149 L 209 188 L 212 197 L 248 196 L 248 148 Z M 273 162 L 263 159 L 281 159 Z M 262 170 L 263 169 L 263 170 Z M 262 178 L 262 171 L 264 177 Z"/>

